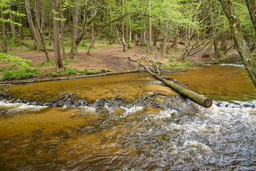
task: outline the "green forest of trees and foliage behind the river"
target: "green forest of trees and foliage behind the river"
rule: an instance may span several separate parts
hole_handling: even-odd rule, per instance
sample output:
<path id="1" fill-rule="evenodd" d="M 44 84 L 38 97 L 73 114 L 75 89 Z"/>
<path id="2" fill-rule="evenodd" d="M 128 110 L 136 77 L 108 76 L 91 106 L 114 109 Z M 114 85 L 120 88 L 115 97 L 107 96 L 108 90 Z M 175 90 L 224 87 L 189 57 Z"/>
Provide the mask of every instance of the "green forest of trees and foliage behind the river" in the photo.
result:
<path id="1" fill-rule="evenodd" d="M 22 68 L 34 69 L 24 71 L 28 72 L 25 78 L 40 73 L 26 56 L 9 55 L 22 51 L 18 50 L 21 47 L 27 48 L 26 51 L 44 52 L 45 61 L 41 61 L 41 65 L 54 63 L 55 70 L 48 75 L 58 76 L 76 72 L 65 64 L 70 59 L 81 60 L 78 50 L 82 48 L 86 55 L 91 55 L 91 50 L 97 48 L 94 43 L 104 40 L 107 46 L 119 44 L 124 53 L 141 47 L 148 56 L 175 58 L 180 65 L 199 52 L 203 52 L 205 58 L 214 56 L 225 60 L 227 54 L 232 54 L 230 50 L 235 49 L 241 56 L 238 60 L 243 61 L 256 85 L 253 55 L 256 5 L 252 0 L 3 0 L 0 5 L 0 59 L 5 66 L 1 70 L 2 80 L 18 79 L 13 75 Z M 49 56 L 52 51 L 53 58 Z M 179 52 L 178 55 L 175 52 Z M 162 66 L 170 67 L 173 63 L 169 60 Z M 98 72 L 85 68 L 84 71 L 86 74 Z"/>

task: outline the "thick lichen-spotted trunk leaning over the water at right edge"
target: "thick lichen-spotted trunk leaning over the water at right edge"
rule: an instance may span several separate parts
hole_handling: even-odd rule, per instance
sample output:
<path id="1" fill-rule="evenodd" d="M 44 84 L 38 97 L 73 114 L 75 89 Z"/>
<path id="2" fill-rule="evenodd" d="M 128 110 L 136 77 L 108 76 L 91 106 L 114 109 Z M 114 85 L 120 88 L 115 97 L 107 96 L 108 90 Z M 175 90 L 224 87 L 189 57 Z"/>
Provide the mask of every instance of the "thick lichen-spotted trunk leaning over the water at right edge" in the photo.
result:
<path id="1" fill-rule="evenodd" d="M 223 11 L 225 12 L 227 19 L 229 20 L 231 32 L 234 36 L 235 44 L 243 60 L 243 64 L 245 64 L 246 70 L 248 71 L 250 78 L 251 80 L 253 80 L 254 86 L 256 87 L 256 62 L 255 59 L 253 58 L 253 55 L 250 52 L 249 47 L 247 46 L 245 38 L 243 37 L 238 15 L 235 13 L 232 3 L 229 0 L 218 1 L 221 3 Z M 254 22 L 254 20 L 252 21 Z"/>

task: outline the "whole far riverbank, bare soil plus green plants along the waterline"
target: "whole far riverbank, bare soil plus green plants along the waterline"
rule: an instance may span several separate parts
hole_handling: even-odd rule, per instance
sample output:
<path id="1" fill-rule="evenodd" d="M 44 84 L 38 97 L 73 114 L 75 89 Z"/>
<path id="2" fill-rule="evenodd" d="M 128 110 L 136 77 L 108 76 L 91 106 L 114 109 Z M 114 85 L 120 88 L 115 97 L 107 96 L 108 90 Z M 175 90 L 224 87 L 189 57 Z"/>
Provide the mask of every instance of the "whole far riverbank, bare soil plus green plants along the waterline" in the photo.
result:
<path id="1" fill-rule="evenodd" d="M 49 51 L 49 56 L 52 62 L 46 62 L 44 52 L 29 51 L 14 48 L 11 49 L 10 55 L 18 56 L 19 58 L 30 60 L 30 66 L 36 70 L 20 70 L 7 64 L 0 64 L 2 68 L 0 71 L 1 80 L 7 80 L 7 83 L 17 82 L 31 82 L 35 80 L 45 80 L 63 77 L 81 77 L 91 74 L 103 74 L 105 72 L 123 72 L 136 69 L 137 63 L 128 60 L 131 56 L 133 59 L 157 59 L 162 64 L 162 67 L 176 70 L 177 68 L 190 68 L 191 66 L 203 66 L 204 64 L 216 64 L 226 60 L 237 60 L 239 54 L 237 50 L 231 49 L 226 55 L 223 54 L 221 58 L 214 56 L 214 48 L 210 51 L 209 55 L 204 55 L 205 50 L 202 50 L 195 55 L 188 56 L 184 61 L 180 60 L 179 56 L 184 50 L 183 44 L 178 44 L 175 50 L 168 49 L 168 55 L 162 56 L 159 47 L 152 47 L 152 54 L 147 53 L 147 47 L 132 46 L 127 52 L 123 52 L 123 47 L 120 44 L 112 44 L 108 47 L 101 47 L 103 44 L 98 42 L 97 48 L 90 51 L 90 55 L 86 54 L 86 47 L 80 47 L 78 50 L 78 60 L 73 60 L 66 55 L 63 59 L 65 71 L 61 73 L 56 72 L 54 64 L 54 52 Z M 170 46 L 169 46 L 170 47 Z M 207 47 L 206 47 L 207 48 Z M 25 51 L 25 52 L 24 52 Z M 65 51 L 66 54 L 69 50 Z M 154 55 L 153 55 L 154 54 Z M 156 56 L 156 57 L 155 57 Z M 25 80 L 24 80 L 25 79 Z M 5 83 L 5 82 L 1 82 Z M 1 84 L 0 83 L 0 84 Z"/>

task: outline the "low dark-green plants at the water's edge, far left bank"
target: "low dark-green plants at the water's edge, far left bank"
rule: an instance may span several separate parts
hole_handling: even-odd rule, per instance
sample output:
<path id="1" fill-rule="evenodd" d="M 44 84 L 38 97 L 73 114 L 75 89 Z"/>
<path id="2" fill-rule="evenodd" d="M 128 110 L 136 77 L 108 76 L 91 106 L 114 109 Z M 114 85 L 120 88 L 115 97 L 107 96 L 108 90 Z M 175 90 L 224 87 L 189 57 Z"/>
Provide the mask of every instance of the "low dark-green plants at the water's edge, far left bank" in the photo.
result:
<path id="1" fill-rule="evenodd" d="M 36 76 L 40 76 L 40 72 L 30 68 L 24 68 L 20 70 L 4 71 L 1 80 L 27 79 Z"/>

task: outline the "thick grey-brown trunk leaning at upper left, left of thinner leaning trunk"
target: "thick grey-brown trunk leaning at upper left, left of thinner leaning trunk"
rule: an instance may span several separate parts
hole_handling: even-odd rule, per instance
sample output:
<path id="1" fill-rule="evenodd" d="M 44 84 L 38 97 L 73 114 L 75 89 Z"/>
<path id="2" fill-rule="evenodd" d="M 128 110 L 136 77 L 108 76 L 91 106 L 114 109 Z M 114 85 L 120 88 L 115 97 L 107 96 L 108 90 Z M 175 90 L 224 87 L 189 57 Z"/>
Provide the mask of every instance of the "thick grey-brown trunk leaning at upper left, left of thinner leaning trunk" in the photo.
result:
<path id="1" fill-rule="evenodd" d="M 33 23 L 29 0 L 25 0 L 25 5 L 26 5 L 27 21 L 29 22 L 29 27 L 30 27 L 31 35 L 33 35 L 33 37 L 34 37 L 34 39 L 36 41 L 37 50 L 40 50 L 42 46 L 41 46 L 39 35 L 37 34 L 36 28 L 35 28 L 34 23 Z"/>

